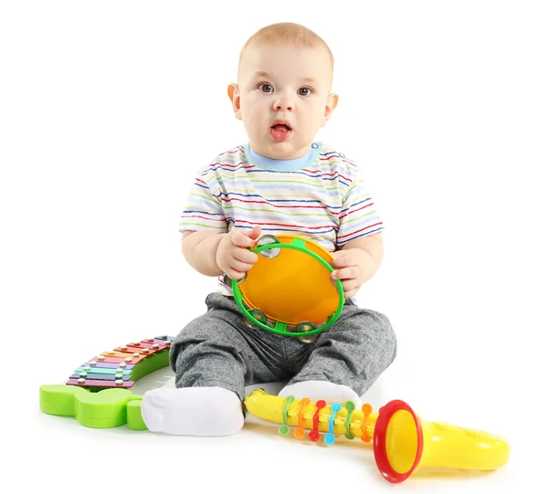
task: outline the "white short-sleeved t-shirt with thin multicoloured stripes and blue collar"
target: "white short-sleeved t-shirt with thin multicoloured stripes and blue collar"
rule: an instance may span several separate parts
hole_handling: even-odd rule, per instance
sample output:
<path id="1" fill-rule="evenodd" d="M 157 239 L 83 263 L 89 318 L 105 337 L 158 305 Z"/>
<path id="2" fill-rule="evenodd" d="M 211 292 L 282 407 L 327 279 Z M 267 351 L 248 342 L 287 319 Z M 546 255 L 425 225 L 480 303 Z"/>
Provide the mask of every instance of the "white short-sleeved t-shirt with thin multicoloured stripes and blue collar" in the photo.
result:
<path id="1" fill-rule="evenodd" d="M 359 167 L 321 142 L 295 160 L 274 160 L 241 145 L 197 173 L 180 232 L 227 233 L 256 225 L 261 235 L 309 238 L 330 252 L 384 229 Z M 232 294 L 223 277 L 218 286 Z"/>

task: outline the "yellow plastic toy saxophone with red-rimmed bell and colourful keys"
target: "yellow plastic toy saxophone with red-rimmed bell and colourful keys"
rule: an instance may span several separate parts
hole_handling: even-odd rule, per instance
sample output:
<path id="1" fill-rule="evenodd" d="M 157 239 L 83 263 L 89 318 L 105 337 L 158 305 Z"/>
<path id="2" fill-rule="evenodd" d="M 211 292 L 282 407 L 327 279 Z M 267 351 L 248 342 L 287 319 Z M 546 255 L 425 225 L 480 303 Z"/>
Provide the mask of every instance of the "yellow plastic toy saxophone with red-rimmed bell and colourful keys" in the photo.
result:
<path id="1" fill-rule="evenodd" d="M 374 413 L 368 404 L 357 410 L 353 402 L 313 403 L 308 398 L 284 398 L 258 388 L 246 397 L 245 405 L 250 414 L 281 424 L 282 436 L 295 426 L 294 436 L 302 438 L 308 429 L 311 441 L 318 441 L 320 431 L 325 432 L 323 440 L 328 445 L 334 443 L 335 436 L 373 440 L 377 468 L 392 483 L 403 482 L 423 467 L 493 470 L 503 467 L 510 455 L 508 443 L 500 436 L 427 422 L 400 400 Z"/>

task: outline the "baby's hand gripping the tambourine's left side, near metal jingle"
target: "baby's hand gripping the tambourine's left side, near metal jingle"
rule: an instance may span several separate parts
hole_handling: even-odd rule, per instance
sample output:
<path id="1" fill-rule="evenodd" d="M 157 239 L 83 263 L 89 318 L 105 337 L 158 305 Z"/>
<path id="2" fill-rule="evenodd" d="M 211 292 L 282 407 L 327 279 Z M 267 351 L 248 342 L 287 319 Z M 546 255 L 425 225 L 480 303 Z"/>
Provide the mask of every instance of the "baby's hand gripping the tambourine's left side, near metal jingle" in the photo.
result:
<path id="1" fill-rule="evenodd" d="M 216 263 L 230 279 L 242 279 L 245 273 L 257 262 L 258 256 L 251 252 L 260 235 L 260 226 L 251 231 L 232 228 L 219 243 L 216 251 Z"/>

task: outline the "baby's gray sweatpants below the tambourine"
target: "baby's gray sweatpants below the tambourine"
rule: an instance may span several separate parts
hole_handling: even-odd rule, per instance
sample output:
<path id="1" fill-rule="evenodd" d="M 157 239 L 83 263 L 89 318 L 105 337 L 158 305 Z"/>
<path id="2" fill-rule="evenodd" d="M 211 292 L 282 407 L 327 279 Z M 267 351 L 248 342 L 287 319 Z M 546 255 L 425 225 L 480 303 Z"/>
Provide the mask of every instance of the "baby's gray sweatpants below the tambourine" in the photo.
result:
<path id="1" fill-rule="evenodd" d="M 176 387 L 220 386 L 243 400 L 249 384 L 314 380 L 362 395 L 395 359 L 395 332 L 386 316 L 350 300 L 339 320 L 310 343 L 249 328 L 232 297 L 210 293 L 205 305 L 205 314 L 172 344 Z"/>

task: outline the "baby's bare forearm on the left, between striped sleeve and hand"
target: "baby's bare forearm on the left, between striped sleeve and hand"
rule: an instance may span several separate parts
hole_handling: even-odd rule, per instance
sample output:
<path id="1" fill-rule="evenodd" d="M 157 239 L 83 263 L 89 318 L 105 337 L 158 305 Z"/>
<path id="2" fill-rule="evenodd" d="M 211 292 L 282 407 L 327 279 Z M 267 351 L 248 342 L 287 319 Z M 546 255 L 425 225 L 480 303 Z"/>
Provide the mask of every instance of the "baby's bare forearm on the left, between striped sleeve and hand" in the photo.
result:
<path id="1" fill-rule="evenodd" d="M 220 276 L 223 270 L 216 263 L 216 251 L 226 233 L 206 231 L 183 232 L 181 247 L 186 262 L 205 276 Z"/>

